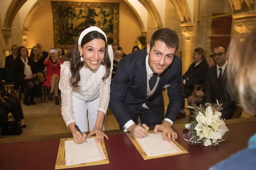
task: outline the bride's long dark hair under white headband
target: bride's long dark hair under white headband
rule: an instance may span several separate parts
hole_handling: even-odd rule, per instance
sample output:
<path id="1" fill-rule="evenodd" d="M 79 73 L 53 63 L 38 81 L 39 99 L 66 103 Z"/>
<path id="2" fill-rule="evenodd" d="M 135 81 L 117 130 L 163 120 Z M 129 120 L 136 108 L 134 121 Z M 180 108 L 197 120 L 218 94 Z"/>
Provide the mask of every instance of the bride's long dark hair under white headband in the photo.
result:
<path id="1" fill-rule="evenodd" d="M 103 39 L 106 43 L 104 62 L 100 63 L 106 67 L 106 73 L 102 78 L 102 80 L 105 81 L 108 78 L 108 76 L 110 75 L 110 67 L 111 67 L 110 59 L 108 56 L 108 44 L 106 42 L 105 36 L 98 31 L 88 32 L 83 37 L 83 39 L 81 41 L 81 47 L 83 48 L 84 44 L 92 41 L 93 39 Z M 71 74 L 72 74 L 72 76 L 70 78 L 70 83 L 74 87 L 80 87 L 77 83 L 81 79 L 79 71 L 82 67 L 84 67 L 84 62 L 81 62 L 81 60 L 80 60 L 80 53 L 78 50 L 78 39 L 76 40 L 76 43 L 74 44 L 73 48 L 67 53 L 66 61 L 70 61 L 70 70 L 71 70 Z"/>

